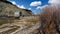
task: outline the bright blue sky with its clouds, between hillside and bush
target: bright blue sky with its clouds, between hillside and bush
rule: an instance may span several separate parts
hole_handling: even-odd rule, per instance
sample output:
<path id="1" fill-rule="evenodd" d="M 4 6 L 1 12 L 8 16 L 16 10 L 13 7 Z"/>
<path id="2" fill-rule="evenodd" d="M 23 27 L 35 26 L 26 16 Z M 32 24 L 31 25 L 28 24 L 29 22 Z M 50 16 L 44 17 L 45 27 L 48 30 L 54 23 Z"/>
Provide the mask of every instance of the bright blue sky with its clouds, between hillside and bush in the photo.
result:
<path id="1" fill-rule="evenodd" d="M 47 5 L 49 0 L 9 0 L 17 7 L 32 10 L 33 13 L 40 13 L 41 6 Z"/>

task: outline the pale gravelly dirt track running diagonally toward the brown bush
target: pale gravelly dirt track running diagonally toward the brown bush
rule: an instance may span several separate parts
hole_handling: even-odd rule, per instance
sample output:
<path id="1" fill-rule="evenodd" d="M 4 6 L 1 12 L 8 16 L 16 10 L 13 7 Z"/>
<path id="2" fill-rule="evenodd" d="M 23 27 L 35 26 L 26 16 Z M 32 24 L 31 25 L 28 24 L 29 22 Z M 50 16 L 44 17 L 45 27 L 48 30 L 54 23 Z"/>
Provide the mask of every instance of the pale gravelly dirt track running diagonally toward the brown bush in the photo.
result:
<path id="1" fill-rule="evenodd" d="M 40 25 L 41 25 L 40 23 L 36 23 L 34 25 L 27 26 L 21 30 L 18 29 L 17 32 L 12 33 L 12 34 L 29 34 L 29 33 L 33 32 L 34 30 L 38 29 L 40 27 Z"/>

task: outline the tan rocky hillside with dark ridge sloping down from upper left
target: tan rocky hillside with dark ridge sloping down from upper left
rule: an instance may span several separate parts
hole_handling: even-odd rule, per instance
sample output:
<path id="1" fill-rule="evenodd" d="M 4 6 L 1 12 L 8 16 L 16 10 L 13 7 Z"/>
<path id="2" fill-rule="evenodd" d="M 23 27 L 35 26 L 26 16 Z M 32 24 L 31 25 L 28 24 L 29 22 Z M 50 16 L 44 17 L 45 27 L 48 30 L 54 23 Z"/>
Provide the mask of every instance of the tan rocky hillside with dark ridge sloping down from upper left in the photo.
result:
<path id="1" fill-rule="evenodd" d="M 22 15 L 32 15 L 32 11 L 28 9 L 18 8 L 16 5 L 13 5 L 11 2 L 6 0 L 0 0 L 0 15 L 10 15 L 13 16 L 14 12 L 19 11 Z"/>

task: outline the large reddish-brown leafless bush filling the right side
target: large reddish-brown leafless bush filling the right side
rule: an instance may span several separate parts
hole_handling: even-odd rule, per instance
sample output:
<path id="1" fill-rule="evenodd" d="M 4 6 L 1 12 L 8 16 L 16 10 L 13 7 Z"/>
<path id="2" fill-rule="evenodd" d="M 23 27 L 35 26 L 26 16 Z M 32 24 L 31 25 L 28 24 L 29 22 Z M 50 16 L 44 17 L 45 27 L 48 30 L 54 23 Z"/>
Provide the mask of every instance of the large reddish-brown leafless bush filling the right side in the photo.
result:
<path id="1" fill-rule="evenodd" d="M 60 34 L 60 6 L 46 6 L 40 14 L 40 34 Z"/>

